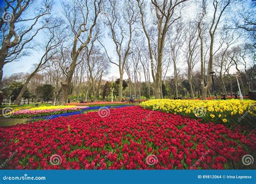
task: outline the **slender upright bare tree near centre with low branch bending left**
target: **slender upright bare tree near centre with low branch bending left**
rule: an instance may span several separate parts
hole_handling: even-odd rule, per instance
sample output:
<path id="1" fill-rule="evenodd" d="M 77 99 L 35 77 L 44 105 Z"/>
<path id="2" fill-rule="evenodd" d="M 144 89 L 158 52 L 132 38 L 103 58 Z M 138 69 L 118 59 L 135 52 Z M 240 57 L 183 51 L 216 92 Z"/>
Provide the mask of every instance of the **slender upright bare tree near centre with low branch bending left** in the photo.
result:
<path id="1" fill-rule="evenodd" d="M 123 13 L 121 9 L 124 9 Z M 125 62 L 130 54 L 130 44 L 132 41 L 132 34 L 136 29 L 135 23 L 137 21 L 137 12 L 134 4 L 131 1 L 124 1 L 124 4 L 119 4 L 118 1 L 107 1 L 104 7 L 105 20 L 104 24 L 109 27 L 109 36 L 113 40 L 115 52 L 117 54 L 117 61 L 114 62 L 105 52 L 109 61 L 116 65 L 119 69 L 119 91 L 118 101 L 122 100 L 123 96 L 123 75 L 125 69 Z M 127 37 L 127 39 L 126 39 Z"/>

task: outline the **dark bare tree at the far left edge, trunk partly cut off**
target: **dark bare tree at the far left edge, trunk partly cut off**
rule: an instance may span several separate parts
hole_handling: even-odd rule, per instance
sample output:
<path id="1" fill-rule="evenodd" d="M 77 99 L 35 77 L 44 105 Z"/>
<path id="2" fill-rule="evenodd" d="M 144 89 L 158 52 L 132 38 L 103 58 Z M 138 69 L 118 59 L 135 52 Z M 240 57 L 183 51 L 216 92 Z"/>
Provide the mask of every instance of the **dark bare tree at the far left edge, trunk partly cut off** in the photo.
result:
<path id="1" fill-rule="evenodd" d="M 0 19 L 0 104 L 2 104 L 2 78 L 3 67 L 6 63 L 17 61 L 21 56 L 28 55 L 29 45 L 37 33 L 44 29 L 45 25 L 39 25 L 42 17 L 51 12 L 52 1 L 43 0 L 36 9 L 35 16 L 29 17 L 25 13 L 29 11 L 32 0 L 4 1 L 4 13 Z"/>

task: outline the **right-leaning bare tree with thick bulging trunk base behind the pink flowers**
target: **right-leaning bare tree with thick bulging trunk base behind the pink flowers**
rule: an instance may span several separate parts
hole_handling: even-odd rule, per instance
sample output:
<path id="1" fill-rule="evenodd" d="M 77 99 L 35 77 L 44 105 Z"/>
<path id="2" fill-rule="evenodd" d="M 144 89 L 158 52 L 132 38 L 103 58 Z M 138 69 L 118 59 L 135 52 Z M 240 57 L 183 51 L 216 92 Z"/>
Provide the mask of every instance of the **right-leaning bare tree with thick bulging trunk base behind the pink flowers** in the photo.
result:
<path id="1" fill-rule="evenodd" d="M 77 58 L 80 52 L 90 43 L 93 28 L 97 23 L 97 18 L 101 11 L 100 6 L 101 0 L 94 0 L 92 2 L 74 0 L 72 3 L 63 3 L 64 14 L 66 19 L 68 19 L 73 40 L 71 52 L 72 62 L 69 66 L 68 75 L 65 81 L 62 82 L 62 94 L 59 104 L 65 104 L 66 102 L 73 73 L 77 65 Z"/>

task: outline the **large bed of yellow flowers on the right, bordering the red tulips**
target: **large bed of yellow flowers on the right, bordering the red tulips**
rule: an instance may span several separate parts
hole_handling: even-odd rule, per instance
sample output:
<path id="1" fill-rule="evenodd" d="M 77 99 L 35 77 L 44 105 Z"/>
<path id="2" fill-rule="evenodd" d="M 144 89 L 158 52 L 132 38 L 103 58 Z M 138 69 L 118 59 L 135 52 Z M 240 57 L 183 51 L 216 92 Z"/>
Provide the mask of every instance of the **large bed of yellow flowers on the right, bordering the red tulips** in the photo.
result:
<path id="1" fill-rule="evenodd" d="M 170 100 L 157 99 L 142 102 L 142 107 L 170 112 L 211 122 L 253 123 L 256 102 L 253 100 Z"/>

